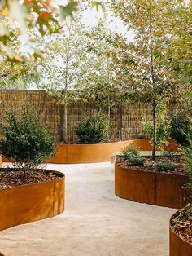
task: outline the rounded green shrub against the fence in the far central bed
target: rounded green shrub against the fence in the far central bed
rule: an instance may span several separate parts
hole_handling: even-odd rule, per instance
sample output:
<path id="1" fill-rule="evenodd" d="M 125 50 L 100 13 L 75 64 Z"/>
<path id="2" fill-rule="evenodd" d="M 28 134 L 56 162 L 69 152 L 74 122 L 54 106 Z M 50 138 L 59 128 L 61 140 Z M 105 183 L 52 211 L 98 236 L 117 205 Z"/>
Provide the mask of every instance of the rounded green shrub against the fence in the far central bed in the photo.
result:
<path id="1" fill-rule="evenodd" d="M 107 140 L 108 130 L 108 118 L 101 113 L 94 113 L 76 126 L 76 135 L 82 144 L 100 143 Z"/>

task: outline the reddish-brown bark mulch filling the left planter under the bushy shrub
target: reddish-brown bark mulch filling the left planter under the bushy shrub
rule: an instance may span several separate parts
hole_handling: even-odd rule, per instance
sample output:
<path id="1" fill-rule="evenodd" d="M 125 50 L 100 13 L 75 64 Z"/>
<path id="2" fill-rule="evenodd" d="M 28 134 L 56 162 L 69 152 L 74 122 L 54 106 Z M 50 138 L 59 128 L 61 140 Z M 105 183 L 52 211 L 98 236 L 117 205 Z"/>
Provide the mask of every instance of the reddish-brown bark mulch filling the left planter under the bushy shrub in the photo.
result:
<path id="1" fill-rule="evenodd" d="M 59 174 L 54 174 L 45 170 L 28 170 L 24 175 L 24 171 L 22 170 L 13 168 L 0 169 L 0 189 L 49 182 L 58 179 L 59 177 Z"/>

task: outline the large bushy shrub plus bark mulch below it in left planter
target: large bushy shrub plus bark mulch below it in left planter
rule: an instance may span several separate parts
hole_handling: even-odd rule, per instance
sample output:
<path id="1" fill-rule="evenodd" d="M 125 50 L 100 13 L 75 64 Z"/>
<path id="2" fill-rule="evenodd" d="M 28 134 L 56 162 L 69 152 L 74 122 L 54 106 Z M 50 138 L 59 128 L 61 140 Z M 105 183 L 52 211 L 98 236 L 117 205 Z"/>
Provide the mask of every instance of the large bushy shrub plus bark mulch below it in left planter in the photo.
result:
<path id="1" fill-rule="evenodd" d="M 37 108 L 26 102 L 20 109 L 11 109 L 0 131 L 0 154 L 14 166 L 1 170 L 0 188 L 55 179 L 55 175 L 38 170 L 55 155 L 56 143 Z"/>

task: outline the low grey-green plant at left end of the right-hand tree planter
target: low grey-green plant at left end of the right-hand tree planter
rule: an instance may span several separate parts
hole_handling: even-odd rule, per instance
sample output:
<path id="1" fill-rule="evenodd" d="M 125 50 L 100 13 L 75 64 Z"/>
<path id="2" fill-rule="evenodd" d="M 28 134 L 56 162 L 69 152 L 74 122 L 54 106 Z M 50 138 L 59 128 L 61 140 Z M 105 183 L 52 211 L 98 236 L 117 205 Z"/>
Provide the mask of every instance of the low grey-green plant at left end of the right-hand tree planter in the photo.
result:
<path id="1" fill-rule="evenodd" d="M 124 159 L 129 160 L 129 163 L 133 166 L 143 166 L 145 157 L 140 156 L 140 150 L 136 146 L 126 146 L 121 150 Z"/>

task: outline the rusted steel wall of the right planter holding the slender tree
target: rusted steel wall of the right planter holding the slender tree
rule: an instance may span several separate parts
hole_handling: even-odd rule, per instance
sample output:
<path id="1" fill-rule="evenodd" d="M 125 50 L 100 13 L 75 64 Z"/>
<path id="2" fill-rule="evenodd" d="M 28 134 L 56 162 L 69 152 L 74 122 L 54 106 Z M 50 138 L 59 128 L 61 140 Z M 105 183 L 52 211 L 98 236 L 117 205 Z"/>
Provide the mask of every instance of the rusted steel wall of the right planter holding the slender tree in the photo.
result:
<path id="1" fill-rule="evenodd" d="M 183 188 L 189 181 L 186 175 L 156 173 L 115 166 L 116 196 L 150 205 L 180 209 L 190 201 Z"/>

